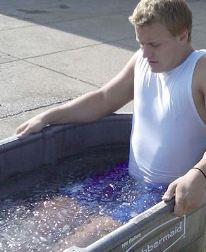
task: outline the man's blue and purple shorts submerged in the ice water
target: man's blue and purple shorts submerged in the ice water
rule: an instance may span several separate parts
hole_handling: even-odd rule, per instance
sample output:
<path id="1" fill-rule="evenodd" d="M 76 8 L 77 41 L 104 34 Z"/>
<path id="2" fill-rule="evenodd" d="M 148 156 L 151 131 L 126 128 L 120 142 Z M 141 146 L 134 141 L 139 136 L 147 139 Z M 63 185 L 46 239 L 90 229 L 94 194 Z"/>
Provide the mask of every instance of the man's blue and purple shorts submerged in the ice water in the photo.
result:
<path id="1" fill-rule="evenodd" d="M 135 181 L 129 176 L 128 162 L 123 162 L 66 187 L 64 193 L 78 204 L 86 203 L 97 213 L 124 223 L 160 202 L 166 188 Z"/>

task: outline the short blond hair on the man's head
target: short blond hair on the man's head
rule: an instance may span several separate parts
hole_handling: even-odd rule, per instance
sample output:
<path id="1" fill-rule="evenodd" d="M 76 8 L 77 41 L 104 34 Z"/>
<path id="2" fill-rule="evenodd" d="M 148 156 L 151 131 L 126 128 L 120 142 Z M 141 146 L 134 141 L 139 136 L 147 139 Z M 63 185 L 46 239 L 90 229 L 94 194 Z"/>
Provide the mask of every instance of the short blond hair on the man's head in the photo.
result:
<path id="1" fill-rule="evenodd" d="M 185 0 L 141 0 L 129 20 L 137 27 L 162 23 L 173 36 L 187 30 L 191 41 L 192 12 Z"/>

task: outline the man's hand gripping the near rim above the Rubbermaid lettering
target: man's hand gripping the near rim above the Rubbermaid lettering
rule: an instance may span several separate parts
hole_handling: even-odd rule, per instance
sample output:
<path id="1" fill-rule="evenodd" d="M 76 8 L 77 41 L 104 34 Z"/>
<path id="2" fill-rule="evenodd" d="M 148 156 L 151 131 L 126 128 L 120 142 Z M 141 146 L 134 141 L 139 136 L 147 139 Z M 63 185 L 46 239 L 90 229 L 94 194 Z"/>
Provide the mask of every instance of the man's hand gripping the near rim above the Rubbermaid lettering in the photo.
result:
<path id="1" fill-rule="evenodd" d="M 175 196 L 174 213 L 187 214 L 206 202 L 206 179 L 200 171 L 189 170 L 184 176 L 173 181 L 162 199 L 171 200 Z"/>

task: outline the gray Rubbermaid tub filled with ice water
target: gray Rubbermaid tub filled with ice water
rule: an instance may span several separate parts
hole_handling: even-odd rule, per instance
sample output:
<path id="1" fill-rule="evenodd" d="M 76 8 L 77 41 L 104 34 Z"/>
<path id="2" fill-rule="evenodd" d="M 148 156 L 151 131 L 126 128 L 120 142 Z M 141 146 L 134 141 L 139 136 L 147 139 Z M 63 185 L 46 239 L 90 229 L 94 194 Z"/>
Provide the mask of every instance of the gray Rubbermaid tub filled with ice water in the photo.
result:
<path id="1" fill-rule="evenodd" d="M 58 165 L 59 160 L 104 145 L 129 148 L 130 114 L 112 115 L 90 124 L 61 125 L 45 128 L 25 139 L 0 141 L 0 182 L 38 169 Z M 2 190 L 2 188 L 1 188 Z M 160 202 L 128 223 L 86 248 L 70 251 L 206 251 L 206 206 L 183 217 L 172 214 L 174 200 Z"/>

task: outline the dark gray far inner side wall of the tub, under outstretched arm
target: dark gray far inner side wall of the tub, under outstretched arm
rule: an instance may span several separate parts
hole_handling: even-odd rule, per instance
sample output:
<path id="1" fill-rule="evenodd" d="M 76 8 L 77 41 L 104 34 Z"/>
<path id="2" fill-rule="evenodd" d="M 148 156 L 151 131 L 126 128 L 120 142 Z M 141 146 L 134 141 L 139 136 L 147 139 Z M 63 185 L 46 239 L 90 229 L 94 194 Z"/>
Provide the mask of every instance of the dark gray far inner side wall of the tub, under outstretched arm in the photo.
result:
<path id="1" fill-rule="evenodd" d="M 132 115 L 112 115 L 95 123 L 46 127 L 23 139 L 0 142 L 0 182 L 19 173 L 102 145 L 129 146 Z"/>

